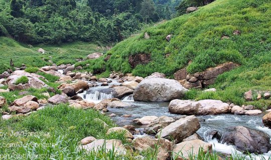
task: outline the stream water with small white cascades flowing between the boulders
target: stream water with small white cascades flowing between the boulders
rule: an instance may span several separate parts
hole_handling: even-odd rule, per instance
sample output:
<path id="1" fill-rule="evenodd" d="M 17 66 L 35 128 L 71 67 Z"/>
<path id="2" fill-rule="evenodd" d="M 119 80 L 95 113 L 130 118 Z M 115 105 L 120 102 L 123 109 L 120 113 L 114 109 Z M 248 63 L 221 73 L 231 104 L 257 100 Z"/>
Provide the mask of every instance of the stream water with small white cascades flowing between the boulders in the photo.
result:
<path id="1" fill-rule="evenodd" d="M 112 79 L 111 79 L 112 80 Z M 94 83 L 94 82 L 90 82 Z M 96 83 L 96 87 L 91 87 L 88 90 L 80 93 L 84 100 L 93 101 L 98 103 L 99 101 L 112 98 L 110 93 L 109 86 L 112 84 L 120 84 L 113 80 L 112 83 L 109 83 L 109 86 L 100 86 L 101 83 Z M 124 108 L 107 108 L 110 113 L 114 113 L 117 116 L 111 117 L 119 126 L 123 125 L 133 125 L 136 128 L 144 128 L 146 125 L 139 125 L 132 120 L 135 118 L 141 118 L 147 115 L 156 115 L 156 116 L 180 116 L 179 114 L 172 114 L 168 111 L 169 102 L 142 102 L 142 101 L 133 101 L 132 95 L 128 95 L 122 99 L 123 102 L 129 103 L 132 106 Z M 121 117 L 121 115 L 130 114 L 130 117 Z M 201 128 L 197 133 L 204 139 L 204 141 L 213 144 L 213 150 L 216 152 L 221 152 L 224 154 L 242 155 L 242 153 L 235 149 L 233 145 L 227 145 L 219 143 L 217 139 L 211 139 L 206 136 L 208 130 L 218 130 L 220 133 L 226 131 L 226 128 L 229 126 L 243 125 L 253 129 L 261 130 L 268 134 L 271 137 L 271 129 L 263 126 L 261 118 L 263 114 L 260 115 L 233 115 L 233 114 L 219 114 L 219 115 L 205 115 L 198 116 L 204 120 L 200 121 Z M 145 135 L 135 135 L 135 136 L 145 136 Z M 252 154 L 253 159 L 268 159 L 271 157 L 271 151 L 268 153 L 255 155 Z M 250 159 L 247 156 L 247 159 Z"/>

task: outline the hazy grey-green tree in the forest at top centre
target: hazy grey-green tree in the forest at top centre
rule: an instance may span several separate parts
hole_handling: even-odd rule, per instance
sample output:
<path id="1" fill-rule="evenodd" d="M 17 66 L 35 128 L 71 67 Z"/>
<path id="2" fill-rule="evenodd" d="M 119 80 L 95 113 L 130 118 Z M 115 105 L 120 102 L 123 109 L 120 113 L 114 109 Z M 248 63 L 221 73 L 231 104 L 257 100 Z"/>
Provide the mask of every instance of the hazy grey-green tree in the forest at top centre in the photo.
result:
<path id="1" fill-rule="evenodd" d="M 155 3 L 153 0 L 143 0 L 141 3 L 141 15 L 144 17 L 144 19 L 147 20 L 150 19 L 155 14 Z"/>

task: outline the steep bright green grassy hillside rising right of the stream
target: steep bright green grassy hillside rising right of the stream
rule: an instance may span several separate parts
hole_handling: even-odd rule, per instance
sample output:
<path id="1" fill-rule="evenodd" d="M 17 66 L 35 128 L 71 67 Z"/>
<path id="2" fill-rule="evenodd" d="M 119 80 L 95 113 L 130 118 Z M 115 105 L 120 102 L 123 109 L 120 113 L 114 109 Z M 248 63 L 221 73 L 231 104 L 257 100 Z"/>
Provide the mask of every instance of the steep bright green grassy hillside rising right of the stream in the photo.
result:
<path id="1" fill-rule="evenodd" d="M 212 98 L 238 105 L 269 107 L 270 99 L 255 99 L 258 93 L 271 90 L 270 26 L 271 0 L 216 0 L 193 13 L 147 28 L 140 35 L 118 43 L 107 52 L 111 55 L 107 62 L 102 57 L 76 65 L 90 63 L 84 69 L 103 68 L 105 73 L 115 70 L 145 77 L 157 71 L 172 77 L 183 67 L 194 73 L 233 61 L 240 66 L 220 75 L 210 86 L 217 92 L 192 89 L 185 98 Z M 241 33 L 235 35 L 234 30 Z M 144 38 L 145 32 L 150 39 Z M 166 36 L 169 34 L 173 37 L 168 42 Z M 223 35 L 229 38 L 222 39 Z M 128 58 L 137 54 L 150 55 L 151 61 L 132 68 Z M 243 93 L 249 89 L 253 90 L 255 101 L 245 102 Z"/>

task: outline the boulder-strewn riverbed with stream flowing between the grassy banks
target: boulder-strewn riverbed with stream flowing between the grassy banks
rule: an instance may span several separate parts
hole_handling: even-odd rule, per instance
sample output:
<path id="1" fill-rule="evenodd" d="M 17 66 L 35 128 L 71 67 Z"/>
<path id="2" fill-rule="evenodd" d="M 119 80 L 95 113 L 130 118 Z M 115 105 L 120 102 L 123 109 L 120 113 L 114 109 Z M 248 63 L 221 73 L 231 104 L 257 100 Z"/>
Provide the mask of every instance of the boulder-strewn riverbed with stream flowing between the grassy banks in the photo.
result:
<path id="1" fill-rule="evenodd" d="M 171 150 L 179 152 L 184 146 L 186 152 L 191 151 L 191 147 L 198 150 L 196 148 L 204 146 L 205 151 L 224 155 L 245 151 L 255 158 L 271 155 L 270 113 L 250 105 L 238 106 L 220 100 L 182 100 L 188 89 L 162 73 L 156 72 L 145 78 L 112 73 L 109 78 L 97 79 L 91 73 L 71 72 L 74 69 L 73 65 L 41 68 L 42 72 L 60 76 L 58 82 L 62 84 L 58 88 L 62 94 L 50 97 L 44 92 L 50 97 L 48 100 L 26 95 L 16 99 L 9 106 L 10 110 L 29 115 L 58 103 L 69 103 L 71 107 L 81 109 L 95 108 L 111 116 L 120 126 L 109 128 L 108 132 L 126 131 L 127 139 L 133 139 L 135 150 L 153 147 L 156 138 L 161 138 L 160 159 L 169 157 Z M 28 76 L 30 81 L 16 84 L 16 79 L 21 76 Z M 23 70 L 7 74 L 5 78 L 2 83 L 10 90 L 48 87 L 40 80 L 43 76 Z M 215 88 L 205 91 L 215 91 Z M 250 99 L 249 96 L 250 91 L 244 93 L 245 99 Z M 268 96 L 268 92 L 264 96 Z M 0 97 L 0 105 L 5 103 L 5 97 Z M 6 113 L 2 117 L 9 119 L 11 116 Z M 86 137 L 82 141 L 82 148 L 92 149 L 97 147 L 93 142 L 103 143 L 104 139 Z M 105 141 L 110 148 L 109 144 L 114 140 Z M 125 151 L 121 141 L 117 143 L 118 150 Z"/>

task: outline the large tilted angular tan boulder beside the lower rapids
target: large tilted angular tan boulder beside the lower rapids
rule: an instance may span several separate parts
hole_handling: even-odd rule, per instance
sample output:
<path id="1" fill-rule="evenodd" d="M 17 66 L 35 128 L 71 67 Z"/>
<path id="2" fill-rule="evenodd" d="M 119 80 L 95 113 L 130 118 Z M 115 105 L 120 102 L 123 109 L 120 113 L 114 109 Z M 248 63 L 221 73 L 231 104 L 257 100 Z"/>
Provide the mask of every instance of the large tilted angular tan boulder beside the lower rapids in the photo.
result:
<path id="1" fill-rule="evenodd" d="M 157 136 L 174 139 L 177 142 L 182 141 L 184 138 L 192 135 L 200 128 L 200 123 L 198 118 L 195 115 L 190 115 L 185 118 L 180 118 L 175 122 L 169 124 L 160 132 L 157 133 Z"/>

